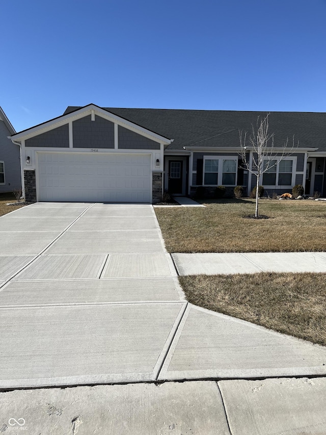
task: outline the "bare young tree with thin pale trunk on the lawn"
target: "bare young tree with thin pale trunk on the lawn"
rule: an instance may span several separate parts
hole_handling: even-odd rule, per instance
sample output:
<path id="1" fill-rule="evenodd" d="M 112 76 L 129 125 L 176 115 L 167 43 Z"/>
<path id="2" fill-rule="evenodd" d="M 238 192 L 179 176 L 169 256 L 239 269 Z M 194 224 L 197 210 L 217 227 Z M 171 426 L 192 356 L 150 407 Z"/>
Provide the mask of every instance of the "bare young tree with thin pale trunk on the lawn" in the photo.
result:
<path id="1" fill-rule="evenodd" d="M 290 156 L 294 152 L 294 136 L 292 138 L 292 146 L 288 147 L 288 138 L 286 138 L 284 145 L 281 149 L 274 148 L 274 133 L 268 133 L 268 116 L 267 113 L 264 118 L 258 116 L 256 126 L 252 124 L 252 132 L 248 138 L 248 132 L 243 132 L 239 130 L 240 138 L 240 156 L 242 159 L 242 167 L 252 174 L 256 175 L 256 209 L 255 217 L 258 215 L 258 187 L 260 177 L 270 168 L 276 166 L 280 161 L 284 160 L 285 157 Z M 251 162 L 247 160 L 246 151 L 247 143 L 249 141 L 250 148 L 253 150 L 252 165 Z"/>

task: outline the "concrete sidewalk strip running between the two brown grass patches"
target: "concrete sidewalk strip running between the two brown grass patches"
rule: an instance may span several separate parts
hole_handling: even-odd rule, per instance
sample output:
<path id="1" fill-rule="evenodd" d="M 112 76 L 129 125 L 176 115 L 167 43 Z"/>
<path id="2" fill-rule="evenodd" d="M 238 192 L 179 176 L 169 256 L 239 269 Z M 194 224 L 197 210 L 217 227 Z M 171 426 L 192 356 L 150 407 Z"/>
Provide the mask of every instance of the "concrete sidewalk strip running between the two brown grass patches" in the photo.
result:
<path id="1" fill-rule="evenodd" d="M 174 253 L 179 275 L 326 272 L 326 252 Z"/>

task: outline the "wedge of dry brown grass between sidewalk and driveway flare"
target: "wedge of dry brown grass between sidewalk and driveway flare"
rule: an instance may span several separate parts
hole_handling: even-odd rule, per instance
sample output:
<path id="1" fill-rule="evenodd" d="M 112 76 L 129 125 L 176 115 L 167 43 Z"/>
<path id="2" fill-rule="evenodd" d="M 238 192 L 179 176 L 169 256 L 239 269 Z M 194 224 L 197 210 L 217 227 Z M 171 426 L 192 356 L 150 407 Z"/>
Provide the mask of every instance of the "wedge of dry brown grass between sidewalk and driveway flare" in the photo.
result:
<path id="1" fill-rule="evenodd" d="M 189 302 L 326 346 L 326 274 L 179 277 Z"/>

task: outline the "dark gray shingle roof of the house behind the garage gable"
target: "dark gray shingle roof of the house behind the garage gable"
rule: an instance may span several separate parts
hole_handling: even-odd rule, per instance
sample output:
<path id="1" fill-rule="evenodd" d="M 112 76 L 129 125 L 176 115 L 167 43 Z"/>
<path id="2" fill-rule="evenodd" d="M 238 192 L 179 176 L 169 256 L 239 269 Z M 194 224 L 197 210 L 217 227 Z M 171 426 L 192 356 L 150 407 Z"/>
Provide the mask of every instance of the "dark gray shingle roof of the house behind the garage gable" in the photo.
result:
<path id="1" fill-rule="evenodd" d="M 80 107 L 69 106 L 65 115 Z M 238 147 L 239 130 L 251 132 L 251 124 L 266 112 L 183 109 L 128 109 L 104 107 L 122 118 L 161 136 L 174 139 L 168 149 L 183 146 Z M 275 134 L 275 146 L 283 146 L 288 137 L 299 147 L 326 151 L 326 113 L 270 112 L 269 132 Z"/>

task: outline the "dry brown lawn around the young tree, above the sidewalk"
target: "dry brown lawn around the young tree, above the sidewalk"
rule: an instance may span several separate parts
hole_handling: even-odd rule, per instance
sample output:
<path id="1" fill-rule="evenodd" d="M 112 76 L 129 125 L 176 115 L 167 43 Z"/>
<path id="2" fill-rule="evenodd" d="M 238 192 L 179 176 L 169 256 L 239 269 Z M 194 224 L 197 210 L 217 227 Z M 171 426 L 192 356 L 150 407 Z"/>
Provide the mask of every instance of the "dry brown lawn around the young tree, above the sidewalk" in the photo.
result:
<path id="1" fill-rule="evenodd" d="M 326 201 L 251 199 L 204 202 L 206 208 L 155 208 L 169 252 L 326 251 Z"/>

